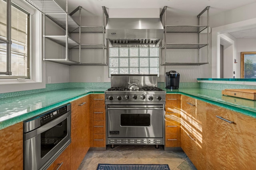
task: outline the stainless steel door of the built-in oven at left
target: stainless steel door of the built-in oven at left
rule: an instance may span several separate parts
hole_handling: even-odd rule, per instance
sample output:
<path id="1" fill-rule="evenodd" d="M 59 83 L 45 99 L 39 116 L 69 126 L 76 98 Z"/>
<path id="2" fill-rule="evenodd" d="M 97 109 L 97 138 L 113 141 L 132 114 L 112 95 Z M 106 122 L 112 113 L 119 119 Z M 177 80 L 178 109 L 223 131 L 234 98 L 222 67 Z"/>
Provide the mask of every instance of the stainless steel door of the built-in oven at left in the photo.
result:
<path id="1" fill-rule="evenodd" d="M 29 123 L 29 122 L 28 122 Z M 24 170 L 44 170 L 68 147 L 71 111 L 24 133 Z"/>

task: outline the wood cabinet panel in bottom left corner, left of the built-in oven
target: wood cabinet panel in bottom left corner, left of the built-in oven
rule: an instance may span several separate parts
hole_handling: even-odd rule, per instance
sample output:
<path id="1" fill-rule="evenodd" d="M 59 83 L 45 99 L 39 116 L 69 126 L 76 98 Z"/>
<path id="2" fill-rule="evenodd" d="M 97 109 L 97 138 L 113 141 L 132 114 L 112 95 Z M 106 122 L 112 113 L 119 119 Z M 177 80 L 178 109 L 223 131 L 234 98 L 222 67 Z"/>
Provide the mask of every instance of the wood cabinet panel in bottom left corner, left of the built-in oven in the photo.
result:
<path id="1" fill-rule="evenodd" d="M 23 169 L 23 122 L 0 130 L 1 170 Z"/>

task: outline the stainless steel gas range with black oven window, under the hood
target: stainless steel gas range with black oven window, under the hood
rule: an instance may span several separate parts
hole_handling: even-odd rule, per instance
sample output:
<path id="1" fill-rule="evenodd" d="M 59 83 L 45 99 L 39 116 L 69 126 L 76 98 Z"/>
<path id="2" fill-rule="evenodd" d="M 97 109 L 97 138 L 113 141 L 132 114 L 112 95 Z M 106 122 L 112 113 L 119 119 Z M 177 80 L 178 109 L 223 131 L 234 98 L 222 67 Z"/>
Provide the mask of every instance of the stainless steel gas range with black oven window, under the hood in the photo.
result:
<path id="1" fill-rule="evenodd" d="M 164 145 L 166 92 L 157 75 L 115 74 L 105 92 L 106 145 Z"/>

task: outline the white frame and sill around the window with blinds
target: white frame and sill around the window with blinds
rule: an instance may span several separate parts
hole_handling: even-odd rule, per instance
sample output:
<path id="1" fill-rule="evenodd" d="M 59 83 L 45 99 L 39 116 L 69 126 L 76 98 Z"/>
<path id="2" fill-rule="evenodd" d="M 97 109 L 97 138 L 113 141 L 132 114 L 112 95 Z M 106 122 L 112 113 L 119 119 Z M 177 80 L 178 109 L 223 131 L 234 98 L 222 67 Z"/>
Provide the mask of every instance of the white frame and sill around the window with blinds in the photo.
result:
<path id="1" fill-rule="evenodd" d="M 0 0 L 2 3 L 3 0 Z M 5 0 L 3 1 L 5 3 Z M 32 5 L 23 0 L 12 0 L 13 7 L 28 15 L 26 28 L 29 30 L 27 35 L 27 57 L 29 57 L 27 67 L 30 73 L 27 72 L 27 78 L 16 79 L 6 78 L 8 76 L 0 75 L 0 93 L 17 92 L 24 90 L 35 90 L 45 88 L 45 69 L 46 63 L 42 61 L 42 14 Z M 20 9 L 18 8 L 20 7 Z M 0 18 L 5 17 L 0 6 Z M 6 4 L 4 5 L 4 9 Z M 21 10 L 22 9 L 22 10 Z M 24 11 L 23 11 L 24 10 Z M 28 13 L 26 13 L 28 12 Z M 4 27 L 6 29 L 6 27 Z M 0 31 L 2 33 L 2 31 Z M 12 36 L 13 37 L 13 36 Z M 6 70 L 5 70 L 6 71 Z M 4 77 L 4 78 L 2 78 Z M 21 78 L 21 77 L 17 77 Z"/>

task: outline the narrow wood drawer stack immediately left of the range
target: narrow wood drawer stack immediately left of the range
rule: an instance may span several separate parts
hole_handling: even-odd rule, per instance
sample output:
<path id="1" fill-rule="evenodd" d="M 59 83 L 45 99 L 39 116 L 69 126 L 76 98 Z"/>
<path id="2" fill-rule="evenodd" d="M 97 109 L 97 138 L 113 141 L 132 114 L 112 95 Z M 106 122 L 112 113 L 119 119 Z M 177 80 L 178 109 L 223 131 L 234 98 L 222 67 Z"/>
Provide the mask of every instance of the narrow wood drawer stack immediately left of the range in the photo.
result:
<path id="1" fill-rule="evenodd" d="M 93 94 L 91 97 L 91 147 L 106 147 L 105 95 Z"/>

